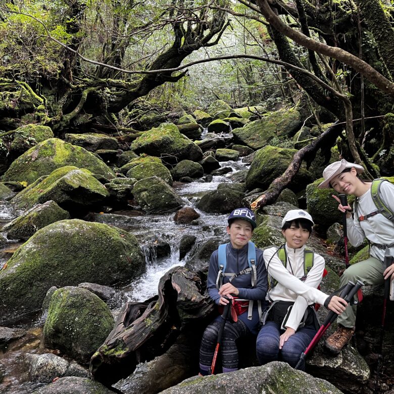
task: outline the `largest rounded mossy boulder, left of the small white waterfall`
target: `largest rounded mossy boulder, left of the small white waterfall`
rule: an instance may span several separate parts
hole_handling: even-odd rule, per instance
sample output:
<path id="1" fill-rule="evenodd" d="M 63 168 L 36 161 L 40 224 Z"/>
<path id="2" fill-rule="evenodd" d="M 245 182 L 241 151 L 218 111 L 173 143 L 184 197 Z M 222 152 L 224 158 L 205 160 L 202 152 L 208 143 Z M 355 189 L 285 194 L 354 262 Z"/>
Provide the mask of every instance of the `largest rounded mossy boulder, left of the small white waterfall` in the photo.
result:
<path id="1" fill-rule="evenodd" d="M 106 224 L 61 220 L 38 230 L 0 271 L 0 315 L 6 319 L 41 308 L 52 286 L 113 285 L 144 270 L 134 235 Z"/>

